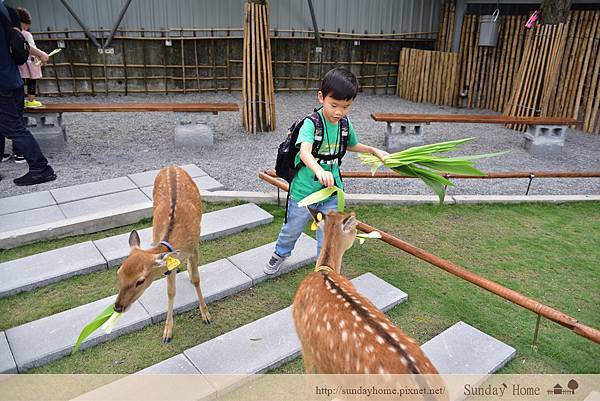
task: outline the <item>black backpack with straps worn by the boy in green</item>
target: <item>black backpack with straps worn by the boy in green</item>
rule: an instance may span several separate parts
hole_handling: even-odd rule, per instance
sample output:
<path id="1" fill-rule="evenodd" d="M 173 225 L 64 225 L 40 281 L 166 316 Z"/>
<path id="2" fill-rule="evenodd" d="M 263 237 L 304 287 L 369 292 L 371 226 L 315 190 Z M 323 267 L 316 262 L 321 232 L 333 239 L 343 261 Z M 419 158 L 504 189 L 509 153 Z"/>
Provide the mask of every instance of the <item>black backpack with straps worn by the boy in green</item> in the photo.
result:
<path id="1" fill-rule="evenodd" d="M 321 119 L 321 115 L 318 112 L 319 109 L 315 109 L 315 111 L 308 116 L 296 120 L 292 126 L 287 131 L 287 136 L 283 142 L 279 145 L 279 149 L 277 150 L 277 161 L 275 162 L 275 171 L 277 172 L 277 176 L 283 178 L 287 182 L 291 183 L 294 179 L 294 176 L 300 169 L 300 165 L 295 165 L 296 155 L 299 152 L 299 149 L 296 147 L 296 141 L 298 140 L 298 133 L 300 132 L 300 128 L 302 124 L 304 124 L 304 120 L 310 118 L 310 120 L 315 125 L 315 141 L 313 142 L 312 147 L 312 155 L 317 161 L 320 163 L 321 161 L 330 161 L 330 160 L 338 160 L 338 165 L 342 164 L 342 157 L 346 154 L 346 149 L 348 147 L 348 118 L 342 117 L 339 122 L 339 130 L 337 132 L 338 138 L 340 142 L 339 152 L 333 155 L 321 155 L 319 154 L 319 149 L 321 149 L 321 144 L 323 143 L 323 120 Z M 300 162 L 303 164 L 302 162 Z"/>

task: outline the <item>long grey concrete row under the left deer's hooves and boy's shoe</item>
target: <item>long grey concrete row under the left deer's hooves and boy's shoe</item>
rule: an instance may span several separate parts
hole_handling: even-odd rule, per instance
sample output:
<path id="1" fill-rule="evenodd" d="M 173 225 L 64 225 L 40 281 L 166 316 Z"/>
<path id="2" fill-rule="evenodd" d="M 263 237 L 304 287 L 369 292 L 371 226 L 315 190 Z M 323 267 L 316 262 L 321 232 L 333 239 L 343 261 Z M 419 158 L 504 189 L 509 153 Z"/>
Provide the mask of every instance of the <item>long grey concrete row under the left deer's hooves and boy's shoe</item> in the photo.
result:
<path id="1" fill-rule="evenodd" d="M 263 263 L 270 256 L 274 246 L 275 243 L 272 243 L 270 247 L 264 249 Z M 298 241 L 296 251 L 284 263 L 300 266 L 314 263 L 315 260 L 316 241 L 303 234 Z M 226 280 L 223 280 L 224 275 L 227 277 Z M 255 283 L 241 269 L 238 269 L 229 258 L 200 266 L 200 277 L 202 291 L 207 301 L 223 298 Z M 260 279 L 262 280 L 263 277 L 260 277 Z M 182 312 L 195 308 L 197 301 L 192 299 L 191 294 L 194 293 L 194 290 L 187 279 L 187 272 L 179 273 L 177 280 L 180 285 L 177 287 L 174 309 Z M 103 331 L 98 330 L 83 342 L 81 349 L 109 341 L 122 334 L 139 330 L 153 322 L 160 321 L 161 318 L 164 318 L 167 308 L 164 287 L 166 287 L 165 279 L 157 280 L 132 306 L 131 310 L 123 315 L 111 334 L 105 334 Z M 160 302 L 161 292 L 162 303 Z M 70 354 L 81 329 L 104 310 L 107 305 L 113 303 L 115 298 L 116 295 L 113 295 L 6 330 L 6 339 L 18 371 L 24 372 L 27 369 L 47 364 Z M 160 339 L 157 338 L 156 341 L 158 343 Z M 5 362 L 4 359 L 4 357 L 0 358 L 0 366 L 8 365 L 8 362 Z M 6 357 L 6 360 L 9 361 L 8 357 Z M 0 371 L 0 373 L 5 372 Z"/>

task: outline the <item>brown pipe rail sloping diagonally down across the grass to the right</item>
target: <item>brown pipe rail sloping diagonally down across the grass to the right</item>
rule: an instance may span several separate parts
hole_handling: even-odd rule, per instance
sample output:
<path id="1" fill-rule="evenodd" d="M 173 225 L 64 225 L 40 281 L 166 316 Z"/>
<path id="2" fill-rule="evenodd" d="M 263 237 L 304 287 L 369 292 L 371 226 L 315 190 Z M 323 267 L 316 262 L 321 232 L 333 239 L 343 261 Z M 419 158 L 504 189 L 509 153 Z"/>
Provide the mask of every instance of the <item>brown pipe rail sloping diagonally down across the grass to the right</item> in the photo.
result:
<path id="1" fill-rule="evenodd" d="M 258 176 L 264 181 L 284 190 L 288 191 L 289 185 L 286 182 L 281 181 L 280 179 L 274 178 L 265 173 L 259 173 Z M 528 298 L 516 291 L 513 291 L 509 288 L 506 288 L 494 281 L 488 280 L 484 277 L 481 277 L 464 267 L 456 265 L 450 261 L 442 259 L 438 256 L 435 256 L 432 253 L 429 253 L 421 248 L 417 248 L 409 244 L 408 242 L 402 241 L 399 238 L 396 238 L 384 231 L 378 230 L 370 225 L 363 223 L 361 221 L 358 222 L 358 229 L 365 232 L 370 233 L 371 231 L 378 231 L 381 234 L 381 240 L 407 252 L 413 256 L 418 257 L 421 260 L 424 260 L 434 266 L 437 266 L 448 273 L 454 274 L 464 280 L 469 281 L 485 290 L 490 291 L 493 294 L 496 294 L 504 299 L 511 301 L 523 308 L 529 309 L 530 311 L 544 316 L 545 318 L 552 320 L 555 323 L 560 324 L 561 326 L 567 327 L 571 329 L 575 334 L 578 334 L 584 338 L 594 341 L 595 343 L 600 344 L 600 331 L 594 329 L 593 327 L 586 326 L 577 321 L 577 319 L 572 318 L 571 316 L 556 310 L 550 306 L 544 305 L 536 300 Z"/>

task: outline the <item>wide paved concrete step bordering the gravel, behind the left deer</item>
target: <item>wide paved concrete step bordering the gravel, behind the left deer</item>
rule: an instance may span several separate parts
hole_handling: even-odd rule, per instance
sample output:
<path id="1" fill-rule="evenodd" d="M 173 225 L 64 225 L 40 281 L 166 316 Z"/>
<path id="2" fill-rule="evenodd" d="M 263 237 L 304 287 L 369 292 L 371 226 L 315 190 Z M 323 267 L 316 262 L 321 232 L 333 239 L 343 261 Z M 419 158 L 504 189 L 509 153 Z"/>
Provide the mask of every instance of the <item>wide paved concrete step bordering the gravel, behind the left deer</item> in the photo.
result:
<path id="1" fill-rule="evenodd" d="M 201 192 L 223 186 L 194 164 L 182 166 Z M 159 170 L 0 199 L 0 249 L 131 224 L 152 215 Z"/>

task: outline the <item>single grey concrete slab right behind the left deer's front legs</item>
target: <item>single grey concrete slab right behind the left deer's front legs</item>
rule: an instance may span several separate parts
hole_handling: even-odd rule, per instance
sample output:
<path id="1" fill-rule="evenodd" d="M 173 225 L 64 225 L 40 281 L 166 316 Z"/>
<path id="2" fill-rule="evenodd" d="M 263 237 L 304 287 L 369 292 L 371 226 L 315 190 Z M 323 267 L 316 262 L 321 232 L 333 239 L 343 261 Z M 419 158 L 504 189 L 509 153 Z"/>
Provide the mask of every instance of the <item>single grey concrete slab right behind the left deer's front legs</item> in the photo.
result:
<path id="1" fill-rule="evenodd" d="M 184 263 L 185 261 L 182 261 L 182 265 Z M 200 266 L 199 271 L 200 287 L 206 303 L 225 298 L 245 290 L 252 285 L 252 280 L 226 259 Z M 175 314 L 187 312 L 198 307 L 196 290 L 190 282 L 187 271 L 177 274 L 176 289 L 177 292 L 173 305 L 173 312 Z M 156 280 L 152 283 L 152 286 L 144 292 L 144 295 L 138 301 L 148 311 L 153 323 L 165 320 L 167 318 L 166 278 Z"/>

